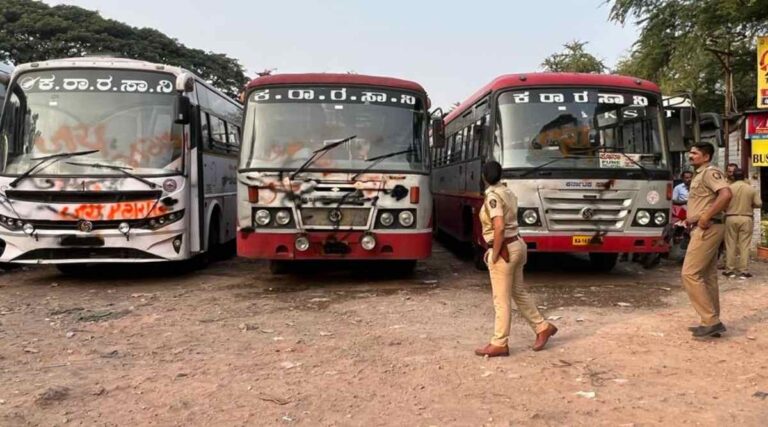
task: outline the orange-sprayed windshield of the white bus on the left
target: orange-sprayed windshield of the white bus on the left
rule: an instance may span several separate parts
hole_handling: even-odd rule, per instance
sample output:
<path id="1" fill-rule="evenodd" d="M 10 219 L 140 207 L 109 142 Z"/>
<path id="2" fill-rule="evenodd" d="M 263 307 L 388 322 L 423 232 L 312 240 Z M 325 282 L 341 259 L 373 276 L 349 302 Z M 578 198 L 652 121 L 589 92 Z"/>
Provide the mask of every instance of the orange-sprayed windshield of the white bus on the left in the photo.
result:
<path id="1" fill-rule="evenodd" d="M 60 69 L 27 72 L 8 91 L 0 128 L 2 173 L 38 158 L 98 150 L 77 163 L 52 162 L 41 175 L 104 175 L 107 164 L 140 175 L 182 170 L 182 127 L 174 124 L 170 74 Z"/>

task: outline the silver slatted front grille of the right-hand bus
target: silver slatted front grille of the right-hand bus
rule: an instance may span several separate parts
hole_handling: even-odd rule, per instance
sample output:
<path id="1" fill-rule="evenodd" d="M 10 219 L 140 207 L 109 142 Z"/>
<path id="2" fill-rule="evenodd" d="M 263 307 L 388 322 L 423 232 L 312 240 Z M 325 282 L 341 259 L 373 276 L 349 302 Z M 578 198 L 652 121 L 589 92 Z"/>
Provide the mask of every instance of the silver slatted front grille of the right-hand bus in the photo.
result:
<path id="1" fill-rule="evenodd" d="M 552 231 L 620 231 L 630 218 L 634 191 L 540 191 Z"/>

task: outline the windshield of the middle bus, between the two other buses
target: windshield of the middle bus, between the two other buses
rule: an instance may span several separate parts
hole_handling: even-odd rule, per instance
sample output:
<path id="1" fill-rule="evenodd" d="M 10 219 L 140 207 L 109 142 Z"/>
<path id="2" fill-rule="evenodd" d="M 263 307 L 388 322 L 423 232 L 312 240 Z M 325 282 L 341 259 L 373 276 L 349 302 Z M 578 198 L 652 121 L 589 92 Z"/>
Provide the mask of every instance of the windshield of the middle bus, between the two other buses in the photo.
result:
<path id="1" fill-rule="evenodd" d="M 255 91 L 246 107 L 241 167 L 295 169 L 314 151 L 354 136 L 306 169 L 426 171 L 424 102 L 410 92 L 360 87 Z"/>

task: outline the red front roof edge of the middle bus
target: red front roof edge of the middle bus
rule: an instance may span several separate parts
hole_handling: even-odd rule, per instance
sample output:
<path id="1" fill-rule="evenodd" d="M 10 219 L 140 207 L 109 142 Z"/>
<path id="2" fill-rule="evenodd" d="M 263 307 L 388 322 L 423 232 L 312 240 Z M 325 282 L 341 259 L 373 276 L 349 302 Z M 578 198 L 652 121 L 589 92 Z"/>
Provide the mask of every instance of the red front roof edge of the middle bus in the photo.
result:
<path id="1" fill-rule="evenodd" d="M 363 74 L 333 73 L 274 74 L 262 76 L 251 80 L 250 83 L 248 83 L 247 89 L 291 84 L 380 86 L 426 93 L 420 84 L 410 80 L 402 80 L 392 77 L 366 76 Z"/>

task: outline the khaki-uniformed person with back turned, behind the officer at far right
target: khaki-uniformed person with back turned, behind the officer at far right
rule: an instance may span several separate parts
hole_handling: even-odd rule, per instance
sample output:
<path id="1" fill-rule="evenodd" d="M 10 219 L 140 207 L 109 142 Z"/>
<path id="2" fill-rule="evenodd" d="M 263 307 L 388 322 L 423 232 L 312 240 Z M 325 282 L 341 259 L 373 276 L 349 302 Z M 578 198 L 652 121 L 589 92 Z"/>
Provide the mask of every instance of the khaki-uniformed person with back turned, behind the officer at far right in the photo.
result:
<path id="1" fill-rule="evenodd" d="M 749 247 L 752 244 L 752 214 L 754 209 L 763 206 L 760 194 L 744 181 L 744 171 L 736 169 L 731 183 L 731 203 L 725 211 L 725 254 L 726 277 L 748 279 L 752 275 L 747 270 Z"/>

